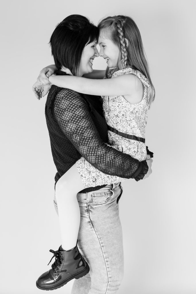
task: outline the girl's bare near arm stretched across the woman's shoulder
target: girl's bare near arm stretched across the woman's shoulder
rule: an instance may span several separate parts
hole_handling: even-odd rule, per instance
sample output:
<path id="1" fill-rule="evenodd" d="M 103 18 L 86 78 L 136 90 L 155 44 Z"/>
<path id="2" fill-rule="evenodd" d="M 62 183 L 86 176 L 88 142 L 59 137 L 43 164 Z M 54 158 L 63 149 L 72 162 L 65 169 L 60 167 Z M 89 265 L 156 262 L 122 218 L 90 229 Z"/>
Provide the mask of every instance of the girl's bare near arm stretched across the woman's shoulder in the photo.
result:
<path id="1" fill-rule="evenodd" d="M 103 80 L 82 78 L 78 76 L 50 76 L 49 81 L 61 88 L 100 96 L 130 95 L 135 90 L 137 80 L 132 74 Z"/>

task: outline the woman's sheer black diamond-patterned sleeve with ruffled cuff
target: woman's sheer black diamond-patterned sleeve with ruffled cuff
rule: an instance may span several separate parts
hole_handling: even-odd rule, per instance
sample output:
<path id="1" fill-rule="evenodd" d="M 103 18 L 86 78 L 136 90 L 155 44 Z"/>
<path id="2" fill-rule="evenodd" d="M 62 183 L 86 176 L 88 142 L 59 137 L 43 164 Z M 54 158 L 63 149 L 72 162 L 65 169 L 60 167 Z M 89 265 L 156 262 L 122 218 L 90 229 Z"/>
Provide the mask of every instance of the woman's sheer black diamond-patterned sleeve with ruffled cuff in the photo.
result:
<path id="1" fill-rule="evenodd" d="M 136 181 L 147 173 L 146 161 L 139 162 L 101 140 L 88 105 L 79 93 L 61 90 L 55 98 L 54 116 L 78 152 L 98 170 L 112 176 L 135 178 Z"/>

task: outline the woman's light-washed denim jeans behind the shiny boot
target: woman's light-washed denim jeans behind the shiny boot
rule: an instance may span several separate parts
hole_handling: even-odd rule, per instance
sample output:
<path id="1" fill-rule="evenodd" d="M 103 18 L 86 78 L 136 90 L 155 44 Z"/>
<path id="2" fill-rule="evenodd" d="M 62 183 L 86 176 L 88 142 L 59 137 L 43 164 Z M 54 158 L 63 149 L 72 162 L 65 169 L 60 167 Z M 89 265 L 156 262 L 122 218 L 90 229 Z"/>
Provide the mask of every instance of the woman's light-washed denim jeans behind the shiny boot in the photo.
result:
<path id="1" fill-rule="evenodd" d="M 123 236 L 118 203 L 121 194 L 120 183 L 77 194 L 81 213 L 78 248 L 90 272 L 74 280 L 71 294 L 118 292 L 123 278 Z"/>

